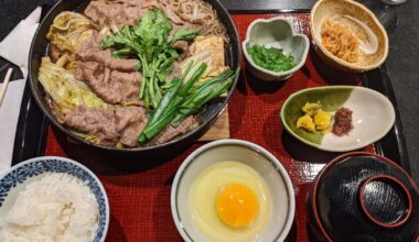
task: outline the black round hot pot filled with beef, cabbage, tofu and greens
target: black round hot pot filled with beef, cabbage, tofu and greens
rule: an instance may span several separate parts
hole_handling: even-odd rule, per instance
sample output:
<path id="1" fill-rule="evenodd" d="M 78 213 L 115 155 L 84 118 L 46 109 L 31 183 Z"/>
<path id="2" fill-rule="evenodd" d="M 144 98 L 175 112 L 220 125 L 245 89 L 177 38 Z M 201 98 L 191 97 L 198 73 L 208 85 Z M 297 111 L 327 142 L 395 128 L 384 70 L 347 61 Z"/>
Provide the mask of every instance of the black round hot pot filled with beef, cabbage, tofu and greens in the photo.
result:
<path id="1" fill-rule="evenodd" d="M 152 155 L 211 127 L 237 84 L 240 48 L 217 0 L 62 0 L 29 64 L 32 94 L 61 131 Z"/>

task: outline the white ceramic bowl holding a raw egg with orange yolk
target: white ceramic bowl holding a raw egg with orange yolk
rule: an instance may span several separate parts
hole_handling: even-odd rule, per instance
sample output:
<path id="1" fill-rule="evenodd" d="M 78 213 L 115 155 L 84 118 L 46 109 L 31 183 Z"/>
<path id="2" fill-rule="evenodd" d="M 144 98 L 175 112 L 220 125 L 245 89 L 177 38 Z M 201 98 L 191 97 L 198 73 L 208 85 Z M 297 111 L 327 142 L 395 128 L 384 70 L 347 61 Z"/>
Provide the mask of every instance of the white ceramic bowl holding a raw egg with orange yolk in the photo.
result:
<path id="1" fill-rule="evenodd" d="M 221 140 L 183 162 L 171 209 L 185 241 L 283 241 L 296 201 L 291 179 L 272 154 L 247 141 Z"/>

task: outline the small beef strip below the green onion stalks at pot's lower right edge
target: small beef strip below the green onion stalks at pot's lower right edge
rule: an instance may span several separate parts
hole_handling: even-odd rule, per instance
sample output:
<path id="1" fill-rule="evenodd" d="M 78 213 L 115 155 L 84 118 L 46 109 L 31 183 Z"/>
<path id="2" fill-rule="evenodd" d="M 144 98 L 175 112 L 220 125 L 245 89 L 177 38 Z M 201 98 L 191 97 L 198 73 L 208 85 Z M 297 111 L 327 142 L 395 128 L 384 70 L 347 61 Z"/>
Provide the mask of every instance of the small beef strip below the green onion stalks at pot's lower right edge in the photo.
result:
<path id="1" fill-rule="evenodd" d="M 148 145 L 162 144 L 175 136 L 187 133 L 196 128 L 196 120 L 192 116 L 186 118 L 179 127 L 174 128 L 172 125 L 168 125 L 163 131 L 161 131 L 153 140 L 151 140 Z"/>

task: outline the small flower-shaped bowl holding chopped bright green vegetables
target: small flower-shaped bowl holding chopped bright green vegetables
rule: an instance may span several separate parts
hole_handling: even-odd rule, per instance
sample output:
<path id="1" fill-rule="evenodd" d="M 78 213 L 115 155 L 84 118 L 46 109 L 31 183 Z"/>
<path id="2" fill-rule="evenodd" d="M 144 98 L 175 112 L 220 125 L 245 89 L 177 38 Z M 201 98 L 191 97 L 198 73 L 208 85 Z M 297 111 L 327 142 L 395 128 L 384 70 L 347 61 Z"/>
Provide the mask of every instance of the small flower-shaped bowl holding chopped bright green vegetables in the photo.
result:
<path id="1" fill-rule="evenodd" d="M 247 29 L 241 48 L 246 68 L 257 78 L 284 80 L 304 65 L 310 43 L 287 19 L 258 19 Z"/>

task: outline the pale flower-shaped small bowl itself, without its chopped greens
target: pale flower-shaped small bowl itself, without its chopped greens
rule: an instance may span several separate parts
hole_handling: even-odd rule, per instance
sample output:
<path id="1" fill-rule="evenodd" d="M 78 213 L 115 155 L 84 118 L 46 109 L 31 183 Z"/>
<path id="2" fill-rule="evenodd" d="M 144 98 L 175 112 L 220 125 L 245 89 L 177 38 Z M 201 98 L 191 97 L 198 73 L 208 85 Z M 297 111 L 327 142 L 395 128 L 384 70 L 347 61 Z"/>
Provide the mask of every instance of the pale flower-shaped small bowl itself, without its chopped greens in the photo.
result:
<path id="1" fill-rule="evenodd" d="M 278 73 L 256 65 L 250 54 L 247 53 L 247 48 L 254 44 L 282 48 L 284 54 L 291 54 L 294 57 L 296 66 L 287 72 Z M 310 42 L 304 34 L 296 34 L 287 19 L 258 19 L 251 22 L 247 29 L 246 40 L 241 43 L 241 48 L 247 61 L 247 69 L 254 76 L 262 80 L 284 80 L 304 65 Z"/>

